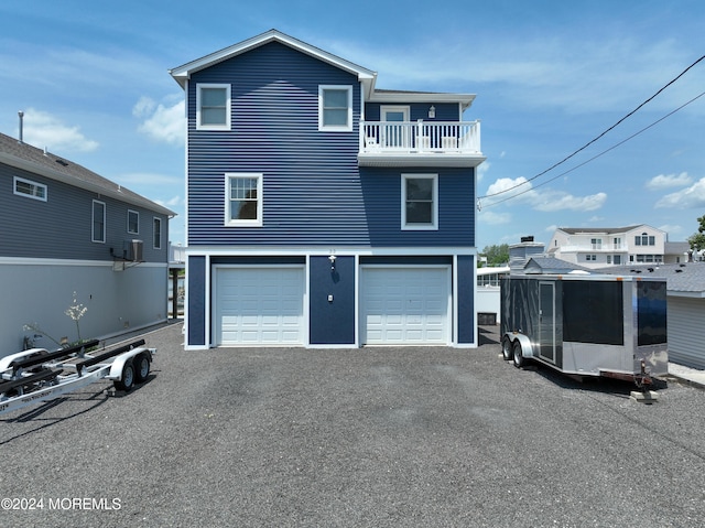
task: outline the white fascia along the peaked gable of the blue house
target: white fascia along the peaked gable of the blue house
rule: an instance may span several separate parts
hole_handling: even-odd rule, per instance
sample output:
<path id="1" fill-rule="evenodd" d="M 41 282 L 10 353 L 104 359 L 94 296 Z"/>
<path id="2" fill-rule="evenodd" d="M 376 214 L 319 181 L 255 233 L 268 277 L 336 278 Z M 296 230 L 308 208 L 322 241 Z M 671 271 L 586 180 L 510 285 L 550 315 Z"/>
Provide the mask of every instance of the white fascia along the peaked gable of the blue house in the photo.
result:
<path id="1" fill-rule="evenodd" d="M 346 61 L 345 58 L 340 58 L 336 55 L 333 55 L 332 53 L 325 52 L 316 46 L 312 46 L 311 44 L 294 39 L 293 36 L 289 36 L 276 30 L 267 31 L 260 35 L 252 36 L 251 39 L 210 53 L 209 55 L 206 55 L 204 57 L 196 58 L 195 61 L 170 69 L 169 73 L 183 88 L 185 87 L 185 83 L 192 74 L 199 72 L 200 69 L 210 67 L 223 61 L 227 61 L 228 58 L 231 58 L 234 56 L 247 53 L 250 50 L 253 50 L 261 45 L 269 44 L 270 42 L 280 42 L 284 45 L 288 45 L 289 47 L 311 55 L 314 58 L 318 58 L 340 69 L 355 74 L 357 75 L 358 80 L 366 84 L 366 86 L 369 86 L 369 93 L 371 93 L 373 89 L 375 79 L 377 78 L 376 72 Z"/>

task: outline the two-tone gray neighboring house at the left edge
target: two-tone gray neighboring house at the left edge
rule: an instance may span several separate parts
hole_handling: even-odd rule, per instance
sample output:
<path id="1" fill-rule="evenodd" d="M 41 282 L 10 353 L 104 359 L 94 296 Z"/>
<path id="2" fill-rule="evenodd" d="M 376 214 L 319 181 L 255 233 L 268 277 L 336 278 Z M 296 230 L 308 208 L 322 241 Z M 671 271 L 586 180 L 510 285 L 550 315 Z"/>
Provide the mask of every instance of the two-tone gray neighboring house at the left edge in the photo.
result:
<path id="1" fill-rule="evenodd" d="M 35 346 L 36 324 L 84 338 L 166 320 L 169 218 L 175 213 L 51 152 L 0 133 L 0 357 Z"/>

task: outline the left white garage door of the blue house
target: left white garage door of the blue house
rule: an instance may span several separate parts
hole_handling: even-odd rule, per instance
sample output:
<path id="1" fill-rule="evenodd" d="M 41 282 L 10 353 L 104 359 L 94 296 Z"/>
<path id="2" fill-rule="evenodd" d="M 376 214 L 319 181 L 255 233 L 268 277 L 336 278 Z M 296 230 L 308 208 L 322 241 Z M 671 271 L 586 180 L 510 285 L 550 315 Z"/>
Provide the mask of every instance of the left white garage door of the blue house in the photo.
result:
<path id="1" fill-rule="evenodd" d="M 216 345 L 303 344 L 304 270 L 215 269 Z"/>

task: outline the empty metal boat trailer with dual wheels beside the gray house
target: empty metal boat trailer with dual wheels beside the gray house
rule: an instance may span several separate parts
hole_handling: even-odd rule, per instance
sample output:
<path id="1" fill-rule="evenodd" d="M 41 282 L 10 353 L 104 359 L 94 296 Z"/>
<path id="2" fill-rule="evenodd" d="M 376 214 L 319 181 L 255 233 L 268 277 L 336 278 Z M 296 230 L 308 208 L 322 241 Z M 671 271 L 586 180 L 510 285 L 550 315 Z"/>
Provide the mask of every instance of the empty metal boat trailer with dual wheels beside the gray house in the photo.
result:
<path id="1" fill-rule="evenodd" d="M 121 391 L 147 380 L 156 349 L 145 347 L 144 340 L 87 352 L 99 343 L 93 340 L 56 352 L 30 348 L 0 358 L 0 414 L 52 400 L 101 379 L 112 380 Z"/>

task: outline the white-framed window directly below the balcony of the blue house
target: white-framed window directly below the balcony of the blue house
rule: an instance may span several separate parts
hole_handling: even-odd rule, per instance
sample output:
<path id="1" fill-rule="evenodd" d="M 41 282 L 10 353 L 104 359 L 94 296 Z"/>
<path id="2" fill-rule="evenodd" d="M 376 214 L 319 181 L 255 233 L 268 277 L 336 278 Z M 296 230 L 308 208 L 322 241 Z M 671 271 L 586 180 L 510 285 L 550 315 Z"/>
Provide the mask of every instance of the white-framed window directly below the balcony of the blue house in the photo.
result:
<path id="1" fill-rule="evenodd" d="M 401 228 L 438 228 L 437 174 L 402 174 Z"/>

